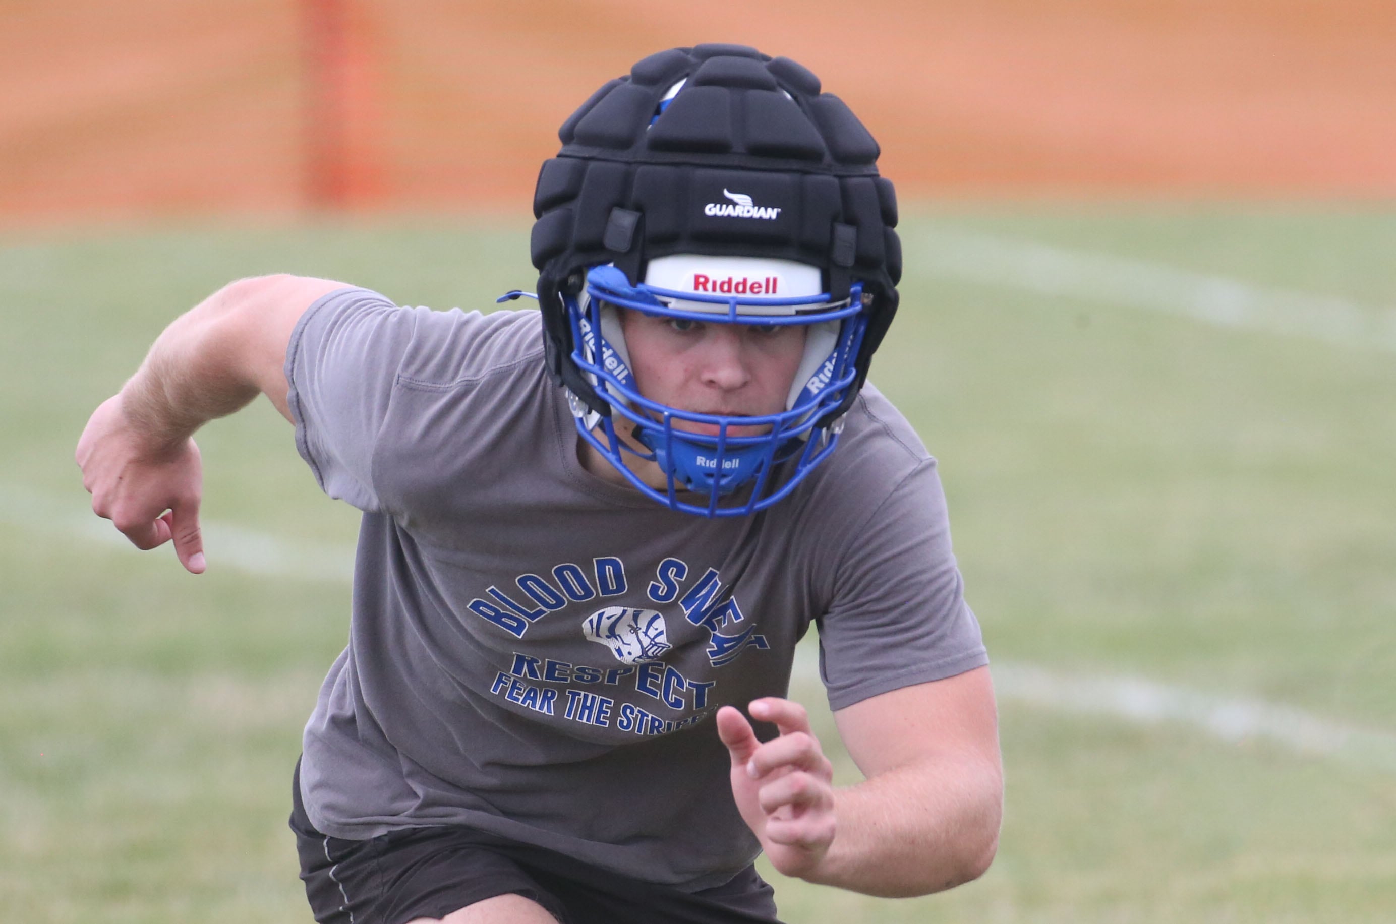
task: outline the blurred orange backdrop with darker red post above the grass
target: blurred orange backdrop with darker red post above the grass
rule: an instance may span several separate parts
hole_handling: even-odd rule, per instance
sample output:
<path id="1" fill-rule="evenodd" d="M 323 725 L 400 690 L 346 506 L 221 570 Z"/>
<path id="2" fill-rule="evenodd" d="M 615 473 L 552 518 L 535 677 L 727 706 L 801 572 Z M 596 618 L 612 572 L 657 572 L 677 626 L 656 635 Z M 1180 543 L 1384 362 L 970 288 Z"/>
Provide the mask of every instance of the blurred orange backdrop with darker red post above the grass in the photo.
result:
<path id="1" fill-rule="evenodd" d="M 1392 197 L 1392 0 L 10 0 L 0 223 L 526 214 L 655 50 L 793 57 L 917 197 Z"/>

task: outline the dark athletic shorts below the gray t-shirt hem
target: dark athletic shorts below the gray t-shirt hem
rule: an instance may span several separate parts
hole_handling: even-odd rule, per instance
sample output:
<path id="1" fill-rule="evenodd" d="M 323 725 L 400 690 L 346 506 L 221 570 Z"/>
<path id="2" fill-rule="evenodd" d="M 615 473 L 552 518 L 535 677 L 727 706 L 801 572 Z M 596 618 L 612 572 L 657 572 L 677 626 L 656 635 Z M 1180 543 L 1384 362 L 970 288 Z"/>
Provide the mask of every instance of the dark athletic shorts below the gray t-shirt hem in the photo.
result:
<path id="1" fill-rule="evenodd" d="M 775 893 L 755 867 L 690 893 L 461 826 L 328 837 L 306 817 L 299 762 L 292 800 L 300 878 L 321 924 L 406 924 L 510 893 L 537 902 L 563 924 L 779 924 Z"/>

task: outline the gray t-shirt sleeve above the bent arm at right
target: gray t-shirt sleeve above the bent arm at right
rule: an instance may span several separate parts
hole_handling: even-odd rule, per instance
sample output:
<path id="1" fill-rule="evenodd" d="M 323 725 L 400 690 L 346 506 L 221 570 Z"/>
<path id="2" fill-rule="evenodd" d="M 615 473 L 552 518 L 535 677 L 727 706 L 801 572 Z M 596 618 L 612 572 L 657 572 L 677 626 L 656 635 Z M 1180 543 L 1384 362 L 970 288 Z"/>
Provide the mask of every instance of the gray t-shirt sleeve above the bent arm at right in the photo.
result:
<path id="1" fill-rule="evenodd" d="M 835 710 L 988 663 L 951 551 L 934 459 L 853 530 L 818 628 L 819 674 Z"/>

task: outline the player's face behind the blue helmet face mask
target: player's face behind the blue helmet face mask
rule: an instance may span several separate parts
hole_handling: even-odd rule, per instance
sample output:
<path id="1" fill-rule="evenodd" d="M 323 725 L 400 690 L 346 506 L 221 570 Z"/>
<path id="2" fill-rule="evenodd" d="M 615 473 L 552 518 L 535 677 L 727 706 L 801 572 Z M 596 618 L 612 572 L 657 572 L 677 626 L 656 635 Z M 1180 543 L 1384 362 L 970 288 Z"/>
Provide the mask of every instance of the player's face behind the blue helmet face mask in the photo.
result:
<path id="1" fill-rule="evenodd" d="M 635 387 L 653 402 L 705 415 L 755 417 L 786 409 L 804 357 L 805 327 L 708 324 L 621 311 Z M 674 429 L 716 434 L 713 424 L 676 420 Z M 768 433 L 769 424 L 729 427 L 729 435 Z"/>

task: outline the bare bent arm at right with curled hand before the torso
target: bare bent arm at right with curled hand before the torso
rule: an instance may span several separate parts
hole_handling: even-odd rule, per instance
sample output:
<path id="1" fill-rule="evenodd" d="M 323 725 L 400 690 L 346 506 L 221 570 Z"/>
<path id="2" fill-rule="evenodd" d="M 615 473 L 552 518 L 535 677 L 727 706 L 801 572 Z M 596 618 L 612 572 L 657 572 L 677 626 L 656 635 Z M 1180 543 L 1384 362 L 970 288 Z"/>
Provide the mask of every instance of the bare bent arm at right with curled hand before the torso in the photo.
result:
<path id="1" fill-rule="evenodd" d="M 737 805 L 778 870 L 905 897 L 980 877 L 1002 814 L 998 720 L 988 669 L 864 699 L 835 713 L 864 782 L 833 789 L 804 709 L 758 699 L 780 737 L 759 744 L 736 709 L 718 716 Z"/>

